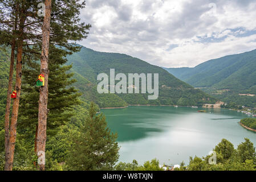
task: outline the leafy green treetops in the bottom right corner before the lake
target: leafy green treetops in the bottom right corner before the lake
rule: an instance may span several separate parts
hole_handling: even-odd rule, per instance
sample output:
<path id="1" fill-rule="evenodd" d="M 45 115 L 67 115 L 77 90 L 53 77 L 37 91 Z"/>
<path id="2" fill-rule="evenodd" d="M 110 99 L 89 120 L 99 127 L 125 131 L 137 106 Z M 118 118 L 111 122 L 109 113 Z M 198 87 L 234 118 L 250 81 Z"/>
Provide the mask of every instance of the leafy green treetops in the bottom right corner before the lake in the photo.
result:
<path id="1" fill-rule="evenodd" d="M 245 142 L 238 145 L 237 149 L 234 149 L 233 144 L 228 140 L 222 139 L 214 148 L 214 151 L 217 153 L 217 164 L 209 164 L 209 158 L 212 155 L 208 155 L 202 159 L 197 156 L 194 159 L 190 157 L 188 170 L 256 171 L 255 147 L 247 138 L 245 138 Z"/>

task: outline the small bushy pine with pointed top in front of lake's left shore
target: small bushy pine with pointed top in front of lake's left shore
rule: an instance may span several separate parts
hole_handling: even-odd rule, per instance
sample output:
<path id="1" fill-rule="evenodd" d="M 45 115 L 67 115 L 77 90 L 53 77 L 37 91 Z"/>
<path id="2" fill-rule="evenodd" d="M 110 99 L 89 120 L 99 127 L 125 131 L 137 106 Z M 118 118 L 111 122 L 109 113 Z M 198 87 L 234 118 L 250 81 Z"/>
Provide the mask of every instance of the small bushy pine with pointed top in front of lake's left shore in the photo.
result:
<path id="1" fill-rule="evenodd" d="M 111 170 L 119 159 L 117 134 L 111 133 L 103 114 L 92 102 L 79 134 L 74 134 L 66 164 L 70 170 Z"/>

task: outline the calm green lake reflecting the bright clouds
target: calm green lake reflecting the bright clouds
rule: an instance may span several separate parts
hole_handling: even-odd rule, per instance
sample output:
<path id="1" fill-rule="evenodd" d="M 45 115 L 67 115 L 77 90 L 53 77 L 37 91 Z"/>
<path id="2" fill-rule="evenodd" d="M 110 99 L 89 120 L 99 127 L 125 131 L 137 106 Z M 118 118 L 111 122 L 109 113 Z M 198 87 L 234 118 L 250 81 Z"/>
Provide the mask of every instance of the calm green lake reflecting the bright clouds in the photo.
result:
<path id="1" fill-rule="evenodd" d="M 249 138 L 256 146 L 256 133 L 239 125 L 247 115 L 226 109 L 129 106 L 101 109 L 108 127 L 119 135 L 120 161 L 140 164 L 157 158 L 161 164 L 188 164 L 189 156 L 206 156 L 222 138 L 237 145 Z"/>

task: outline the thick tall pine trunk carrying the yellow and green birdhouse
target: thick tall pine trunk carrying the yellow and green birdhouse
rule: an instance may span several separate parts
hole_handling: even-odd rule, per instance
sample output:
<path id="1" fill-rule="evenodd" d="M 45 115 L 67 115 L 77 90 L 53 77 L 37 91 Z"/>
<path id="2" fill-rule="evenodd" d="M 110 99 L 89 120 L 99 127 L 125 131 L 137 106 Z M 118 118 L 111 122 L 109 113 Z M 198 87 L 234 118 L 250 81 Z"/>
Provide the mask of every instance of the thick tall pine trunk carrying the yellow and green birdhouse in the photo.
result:
<path id="1" fill-rule="evenodd" d="M 40 158 L 45 157 L 46 148 L 46 123 L 47 123 L 47 102 L 48 102 L 48 52 L 50 39 L 50 18 L 51 18 L 51 0 L 45 1 L 45 16 L 43 20 L 43 40 L 41 53 L 41 69 L 40 72 L 44 75 L 44 86 L 40 88 L 39 107 L 38 107 L 38 136 L 36 138 L 37 155 Z M 41 156 L 44 155 L 44 156 Z M 45 170 L 45 164 L 40 163 L 39 169 Z"/>

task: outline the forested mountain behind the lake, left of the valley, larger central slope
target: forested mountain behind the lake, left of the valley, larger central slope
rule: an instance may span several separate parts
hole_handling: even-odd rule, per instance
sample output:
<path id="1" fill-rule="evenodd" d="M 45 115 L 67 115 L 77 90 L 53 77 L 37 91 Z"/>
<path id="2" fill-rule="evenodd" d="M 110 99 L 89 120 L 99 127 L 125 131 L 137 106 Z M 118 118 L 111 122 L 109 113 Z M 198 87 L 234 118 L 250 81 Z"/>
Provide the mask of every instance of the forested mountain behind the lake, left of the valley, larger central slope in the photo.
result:
<path id="1" fill-rule="evenodd" d="M 72 64 L 72 72 L 78 80 L 75 86 L 83 92 L 86 100 L 95 101 L 100 107 L 119 107 L 127 105 L 202 105 L 216 100 L 201 90 L 178 80 L 164 69 L 143 60 L 120 53 L 97 52 L 82 47 L 67 57 Z M 159 73 L 159 98 L 148 100 L 147 94 L 99 94 L 96 91 L 97 75 L 115 68 L 115 73 Z"/>

